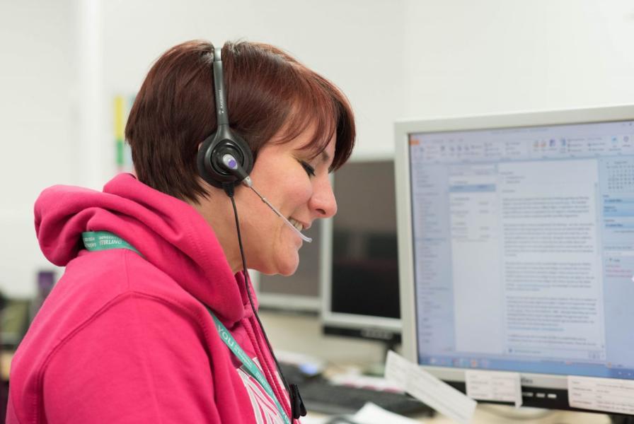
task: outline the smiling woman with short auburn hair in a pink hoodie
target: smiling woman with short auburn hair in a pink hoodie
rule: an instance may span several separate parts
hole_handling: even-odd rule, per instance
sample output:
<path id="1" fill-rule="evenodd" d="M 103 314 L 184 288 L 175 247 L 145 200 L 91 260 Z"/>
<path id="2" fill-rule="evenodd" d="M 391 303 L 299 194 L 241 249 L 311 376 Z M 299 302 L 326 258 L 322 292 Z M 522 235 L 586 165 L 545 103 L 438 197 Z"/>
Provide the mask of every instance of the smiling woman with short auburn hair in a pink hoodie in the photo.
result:
<path id="1" fill-rule="evenodd" d="M 222 127 L 214 107 L 228 109 L 255 158 L 253 187 L 303 230 L 336 212 L 328 173 L 350 156 L 355 123 L 335 86 L 279 49 L 218 53 L 185 42 L 149 71 L 126 126 L 136 178 L 103 192 L 54 186 L 36 202 L 42 252 L 67 268 L 13 358 L 8 423 L 298 416 L 242 271 L 244 255 L 248 268 L 292 274 L 301 238 L 241 178 L 215 184 L 198 162 Z M 224 78 L 212 84 L 214 58 Z"/>

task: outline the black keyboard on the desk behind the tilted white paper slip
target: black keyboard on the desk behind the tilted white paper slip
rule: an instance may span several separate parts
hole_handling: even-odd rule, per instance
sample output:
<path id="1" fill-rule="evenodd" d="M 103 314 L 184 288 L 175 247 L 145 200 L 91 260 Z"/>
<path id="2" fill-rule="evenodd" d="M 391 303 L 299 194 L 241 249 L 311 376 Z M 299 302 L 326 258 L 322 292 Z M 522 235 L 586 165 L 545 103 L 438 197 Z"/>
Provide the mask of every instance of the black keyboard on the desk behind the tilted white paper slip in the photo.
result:
<path id="1" fill-rule="evenodd" d="M 330 415 L 355 413 L 366 402 L 400 415 L 434 414 L 432 408 L 404 393 L 331 384 L 325 379 L 311 379 L 299 384 L 299 394 L 306 409 Z"/>

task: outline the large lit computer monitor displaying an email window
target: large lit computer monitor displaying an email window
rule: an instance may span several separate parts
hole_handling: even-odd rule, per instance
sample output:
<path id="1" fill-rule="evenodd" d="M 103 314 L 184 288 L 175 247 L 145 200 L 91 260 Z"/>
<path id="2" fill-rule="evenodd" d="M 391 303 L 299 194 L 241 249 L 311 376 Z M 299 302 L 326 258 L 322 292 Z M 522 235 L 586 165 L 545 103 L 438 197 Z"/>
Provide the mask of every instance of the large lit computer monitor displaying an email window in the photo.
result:
<path id="1" fill-rule="evenodd" d="M 634 106 L 396 124 L 403 351 L 456 386 L 634 379 Z"/>

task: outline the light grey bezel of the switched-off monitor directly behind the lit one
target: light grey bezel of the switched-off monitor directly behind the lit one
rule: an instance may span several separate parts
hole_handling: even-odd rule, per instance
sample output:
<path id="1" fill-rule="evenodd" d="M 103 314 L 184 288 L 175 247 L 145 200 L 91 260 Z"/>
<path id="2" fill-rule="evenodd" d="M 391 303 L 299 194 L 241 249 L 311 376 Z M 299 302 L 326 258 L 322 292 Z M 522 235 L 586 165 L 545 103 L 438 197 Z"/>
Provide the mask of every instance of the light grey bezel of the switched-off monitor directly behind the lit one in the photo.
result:
<path id="1" fill-rule="evenodd" d="M 348 163 L 390 160 L 394 160 L 393 153 L 367 153 L 352 155 Z M 330 176 L 331 184 L 335 183 L 335 178 L 335 175 Z M 389 342 L 394 341 L 395 339 L 400 341 L 400 319 L 374 317 L 371 315 L 345 314 L 342 312 L 332 311 L 332 303 L 330 299 L 330 283 L 332 281 L 333 272 L 333 218 L 326 218 L 323 220 L 321 225 L 321 240 L 321 324 L 325 333 L 340 334 L 346 336 L 359 336 L 363 338 L 373 338 L 376 340 L 385 340 Z"/>

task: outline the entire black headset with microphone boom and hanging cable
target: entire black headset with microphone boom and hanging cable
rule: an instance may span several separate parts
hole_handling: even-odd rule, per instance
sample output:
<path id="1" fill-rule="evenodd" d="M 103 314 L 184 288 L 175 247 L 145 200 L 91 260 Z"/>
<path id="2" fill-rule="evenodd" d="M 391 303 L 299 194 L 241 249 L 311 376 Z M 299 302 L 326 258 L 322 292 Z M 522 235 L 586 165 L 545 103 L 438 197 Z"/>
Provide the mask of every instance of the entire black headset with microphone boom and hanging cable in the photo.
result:
<path id="1" fill-rule="evenodd" d="M 282 216 L 282 213 L 279 213 L 279 211 L 277 211 L 277 209 L 253 187 L 249 177 L 251 170 L 253 170 L 253 152 L 251 152 L 251 149 L 246 141 L 244 141 L 241 136 L 238 136 L 238 134 L 236 134 L 229 126 L 229 112 L 226 105 L 226 90 L 224 89 L 221 49 L 214 48 L 213 73 L 217 129 L 213 134 L 207 137 L 207 139 L 204 139 L 202 145 L 198 149 L 198 172 L 204 181 L 212 184 L 214 187 L 224 189 L 224 192 L 226 192 L 226 194 L 231 198 L 231 203 L 234 206 L 234 214 L 236 217 L 238 244 L 240 246 L 244 282 L 247 284 L 246 292 L 248 294 L 249 302 L 251 304 L 251 308 L 253 309 L 253 314 L 255 314 L 255 318 L 258 319 L 258 324 L 260 324 L 260 329 L 264 335 L 269 352 L 275 361 L 277 372 L 279 373 L 279 376 L 282 377 L 284 388 L 287 389 L 289 393 L 292 419 L 298 419 L 300 416 L 306 416 L 306 408 L 304 406 L 304 402 L 301 401 L 299 389 L 296 384 L 288 384 L 287 380 L 284 378 L 284 374 L 282 374 L 282 369 L 279 367 L 279 363 L 277 363 L 277 358 L 275 358 L 275 353 L 273 353 L 273 349 L 271 348 L 269 339 L 264 331 L 260 317 L 258 317 L 258 312 L 255 310 L 255 306 L 253 305 L 253 299 L 251 299 L 251 291 L 248 287 L 250 278 L 246 269 L 246 259 L 244 257 L 244 250 L 242 247 L 240 225 L 238 223 L 238 211 L 236 210 L 236 202 L 234 201 L 234 188 L 238 184 L 244 184 L 246 187 L 249 187 L 253 190 L 253 192 L 255 192 L 255 194 L 260 196 L 260 199 L 262 199 L 262 201 L 267 204 L 267 206 L 269 206 L 272 211 L 277 214 L 277 216 L 282 218 L 287 225 L 293 228 L 300 237 L 308 242 L 311 242 L 311 239 L 304 236 L 301 232 L 299 232 L 299 230 L 294 228 L 287 218 Z"/>

